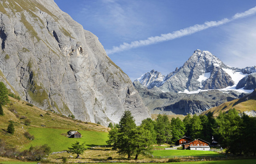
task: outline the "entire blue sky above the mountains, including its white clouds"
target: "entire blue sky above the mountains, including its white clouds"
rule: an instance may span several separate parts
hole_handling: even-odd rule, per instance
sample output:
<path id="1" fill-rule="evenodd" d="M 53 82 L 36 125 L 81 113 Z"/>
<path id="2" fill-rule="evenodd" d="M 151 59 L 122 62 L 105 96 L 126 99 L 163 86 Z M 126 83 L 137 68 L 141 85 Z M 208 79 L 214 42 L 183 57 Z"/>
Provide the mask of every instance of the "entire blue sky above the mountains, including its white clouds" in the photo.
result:
<path id="1" fill-rule="evenodd" d="M 196 49 L 232 67 L 256 65 L 255 0 L 54 1 L 132 81 L 152 69 L 166 75 Z"/>

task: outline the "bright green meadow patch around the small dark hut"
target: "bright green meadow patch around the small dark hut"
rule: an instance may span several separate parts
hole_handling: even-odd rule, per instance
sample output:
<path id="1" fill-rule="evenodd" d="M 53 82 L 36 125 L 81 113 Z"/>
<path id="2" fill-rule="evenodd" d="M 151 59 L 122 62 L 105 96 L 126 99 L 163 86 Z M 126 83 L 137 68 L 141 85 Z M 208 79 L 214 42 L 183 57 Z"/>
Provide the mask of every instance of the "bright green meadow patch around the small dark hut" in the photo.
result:
<path id="1" fill-rule="evenodd" d="M 68 138 L 66 135 L 69 130 L 65 129 L 30 127 L 28 131 L 34 136 L 34 140 L 25 145 L 24 149 L 30 148 L 31 145 L 48 144 L 52 152 L 67 150 L 75 141 L 85 142 L 86 147 L 95 147 L 106 145 L 106 140 L 108 139 L 107 132 L 79 130 L 82 138 Z"/>

